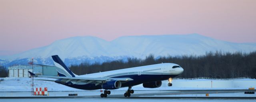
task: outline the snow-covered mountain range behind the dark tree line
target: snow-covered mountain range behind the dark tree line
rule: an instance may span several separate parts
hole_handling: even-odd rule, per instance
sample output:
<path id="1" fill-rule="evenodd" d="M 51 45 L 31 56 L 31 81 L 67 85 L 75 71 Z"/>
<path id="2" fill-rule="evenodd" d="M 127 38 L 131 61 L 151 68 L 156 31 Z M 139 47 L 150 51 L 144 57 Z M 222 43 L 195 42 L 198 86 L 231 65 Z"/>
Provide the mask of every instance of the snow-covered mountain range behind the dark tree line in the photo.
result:
<path id="1" fill-rule="evenodd" d="M 206 51 L 256 51 L 256 43 L 231 43 L 199 34 L 124 36 L 106 41 L 98 37 L 70 37 L 16 55 L 1 56 L 0 65 L 26 64 L 32 57 L 37 64 L 52 65 L 51 55 L 59 55 L 67 65 L 104 62 L 127 57 L 201 55 Z"/>

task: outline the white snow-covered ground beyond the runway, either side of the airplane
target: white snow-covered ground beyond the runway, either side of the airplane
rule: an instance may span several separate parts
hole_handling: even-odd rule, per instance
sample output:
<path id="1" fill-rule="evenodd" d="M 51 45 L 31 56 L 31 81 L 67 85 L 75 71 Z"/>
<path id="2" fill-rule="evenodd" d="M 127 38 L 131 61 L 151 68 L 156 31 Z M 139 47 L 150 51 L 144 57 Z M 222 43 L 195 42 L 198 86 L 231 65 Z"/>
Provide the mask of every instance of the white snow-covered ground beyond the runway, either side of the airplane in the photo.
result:
<path id="1" fill-rule="evenodd" d="M 53 78 L 34 78 L 56 80 Z M 31 78 L 0 78 L 0 92 L 20 92 L 31 91 Z M 248 89 L 256 87 L 256 79 L 237 79 L 237 80 L 173 80 L 173 86 L 167 86 L 168 81 L 162 81 L 162 86 L 159 88 L 144 88 L 142 84 L 133 86 L 133 90 L 211 90 L 211 89 Z M 34 87 L 47 87 L 48 91 L 82 91 L 80 89 L 71 88 L 62 84 L 51 81 L 34 80 Z M 120 88 L 117 90 L 127 90 Z"/>

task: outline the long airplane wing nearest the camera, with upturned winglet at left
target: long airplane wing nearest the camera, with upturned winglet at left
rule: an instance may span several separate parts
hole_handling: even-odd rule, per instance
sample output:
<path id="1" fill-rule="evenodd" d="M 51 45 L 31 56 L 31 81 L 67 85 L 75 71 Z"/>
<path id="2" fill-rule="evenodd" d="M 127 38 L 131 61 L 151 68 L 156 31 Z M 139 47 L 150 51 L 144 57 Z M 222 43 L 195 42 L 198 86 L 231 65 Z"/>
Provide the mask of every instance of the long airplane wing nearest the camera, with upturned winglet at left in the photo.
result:
<path id="1" fill-rule="evenodd" d="M 119 80 L 122 83 L 133 80 L 132 78 L 84 78 L 84 77 L 58 77 L 58 76 L 43 76 L 43 75 L 35 75 L 34 73 L 28 71 L 31 77 L 44 77 L 44 78 L 56 78 L 60 80 L 45 80 L 45 81 L 55 81 L 55 82 L 72 82 L 73 84 L 89 84 L 93 83 L 95 85 L 105 83 L 110 80 Z M 41 79 L 36 79 L 41 80 Z"/>

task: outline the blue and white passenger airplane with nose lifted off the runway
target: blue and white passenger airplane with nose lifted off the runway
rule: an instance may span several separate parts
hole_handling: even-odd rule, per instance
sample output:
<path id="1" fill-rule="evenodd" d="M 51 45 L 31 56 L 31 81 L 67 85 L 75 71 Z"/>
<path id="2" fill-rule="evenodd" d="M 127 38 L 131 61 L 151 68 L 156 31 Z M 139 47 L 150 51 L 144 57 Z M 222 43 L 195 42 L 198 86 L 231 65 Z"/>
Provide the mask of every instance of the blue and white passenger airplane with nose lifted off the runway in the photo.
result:
<path id="1" fill-rule="evenodd" d="M 53 81 L 72 88 L 82 90 L 98 90 L 104 89 L 104 94 L 100 97 L 107 97 L 110 90 L 122 87 L 128 87 L 124 93 L 125 97 L 130 97 L 134 93 L 132 86 L 143 84 L 144 88 L 158 88 L 162 85 L 162 80 L 168 80 L 168 86 L 172 86 L 172 78 L 183 73 L 183 68 L 174 63 L 160 63 L 155 65 L 146 65 L 141 67 L 133 67 L 127 69 L 119 69 L 114 71 L 106 71 L 100 73 L 92 73 L 87 75 L 76 75 L 63 63 L 58 55 L 53 55 L 54 65 L 57 67 L 58 76 L 35 75 L 28 71 L 31 77 L 56 78 Z"/>

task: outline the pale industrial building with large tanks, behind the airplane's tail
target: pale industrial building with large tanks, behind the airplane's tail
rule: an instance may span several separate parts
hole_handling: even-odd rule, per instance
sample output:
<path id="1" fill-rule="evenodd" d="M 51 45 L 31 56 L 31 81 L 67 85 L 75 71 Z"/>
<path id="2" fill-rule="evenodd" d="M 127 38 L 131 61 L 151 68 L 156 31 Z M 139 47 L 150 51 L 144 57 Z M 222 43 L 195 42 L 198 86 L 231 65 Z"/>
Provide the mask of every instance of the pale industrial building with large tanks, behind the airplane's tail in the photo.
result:
<path id="1" fill-rule="evenodd" d="M 8 77 L 29 77 L 28 71 L 36 75 L 58 76 L 53 65 L 15 65 L 8 67 Z"/>

